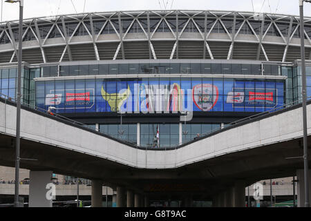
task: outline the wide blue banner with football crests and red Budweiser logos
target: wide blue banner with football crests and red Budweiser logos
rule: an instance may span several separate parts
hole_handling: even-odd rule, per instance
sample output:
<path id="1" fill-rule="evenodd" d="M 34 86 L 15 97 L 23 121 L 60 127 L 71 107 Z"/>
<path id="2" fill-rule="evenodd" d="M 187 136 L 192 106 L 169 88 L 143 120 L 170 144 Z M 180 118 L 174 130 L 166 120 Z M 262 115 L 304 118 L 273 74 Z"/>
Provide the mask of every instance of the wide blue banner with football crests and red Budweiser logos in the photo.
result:
<path id="1" fill-rule="evenodd" d="M 263 112 L 285 102 L 284 81 L 237 79 L 79 79 L 36 82 L 36 104 L 57 113 Z"/>

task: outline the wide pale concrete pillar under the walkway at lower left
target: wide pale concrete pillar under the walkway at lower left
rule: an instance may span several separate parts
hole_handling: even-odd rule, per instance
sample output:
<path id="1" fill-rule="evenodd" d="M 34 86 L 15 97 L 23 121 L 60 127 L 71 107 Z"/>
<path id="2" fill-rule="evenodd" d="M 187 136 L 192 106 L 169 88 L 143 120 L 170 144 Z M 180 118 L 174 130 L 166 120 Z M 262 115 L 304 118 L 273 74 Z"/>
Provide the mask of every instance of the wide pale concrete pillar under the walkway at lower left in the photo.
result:
<path id="1" fill-rule="evenodd" d="M 52 171 L 30 171 L 29 207 L 53 206 L 56 187 L 51 180 L 52 173 Z"/>

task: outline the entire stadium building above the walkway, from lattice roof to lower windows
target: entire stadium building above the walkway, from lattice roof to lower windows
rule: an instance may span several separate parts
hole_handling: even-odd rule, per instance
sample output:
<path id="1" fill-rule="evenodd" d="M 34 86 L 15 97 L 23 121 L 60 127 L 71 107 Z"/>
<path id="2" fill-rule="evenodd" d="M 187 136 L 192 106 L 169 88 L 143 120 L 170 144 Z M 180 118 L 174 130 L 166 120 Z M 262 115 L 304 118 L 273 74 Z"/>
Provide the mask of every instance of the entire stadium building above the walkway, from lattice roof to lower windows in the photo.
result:
<path id="1" fill-rule="evenodd" d="M 22 99 L 141 148 L 175 148 L 296 104 L 311 17 L 170 10 L 23 20 Z M 15 99 L 18 21 L 0 23 L 0 89 Z M 307 61 L 311 96 L 311 61 Z M 185 115 L 190 117 L 185 117 Z"/>

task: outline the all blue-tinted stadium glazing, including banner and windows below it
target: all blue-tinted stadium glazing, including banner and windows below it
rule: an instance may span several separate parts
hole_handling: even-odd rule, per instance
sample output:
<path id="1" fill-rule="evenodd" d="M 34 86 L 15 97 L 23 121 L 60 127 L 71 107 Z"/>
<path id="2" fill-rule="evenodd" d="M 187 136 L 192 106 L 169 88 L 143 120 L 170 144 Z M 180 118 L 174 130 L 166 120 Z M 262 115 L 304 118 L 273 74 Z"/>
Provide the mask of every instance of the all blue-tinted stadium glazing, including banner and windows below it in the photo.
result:
<path id="1" fill-rule="evenodd" d="M 192 61 L 192 60 L 191 60 Z M 267 63 L 267 62 L 266 62 Z M 308 64 L 307 64 L 308 65 Z M 261 69 L 263 67 L 263 69 Z M 59 73 L 69 76 L 96 75 L 88 77 L 55 77 Z M 186 73 L 186 77 L 135 77 L 104 78 L 99 75 L 140 73 Z M 195 74 L 215 74 L 202 75 Z M 216 75 L 216 74 L 220 75 Z M 256 75 L 274 75 L 256 78 Z M 306 67 L 307 95 L 311 96 L 311 66 Z M 194 75 L 192 75 L 194 74 Z M 231 75 L 235 74 L 235 75 Z M 236 75 L 254 75 L 241 77 Z M 225 75 L 225 77 L 223 76 Z M 279 75 L 287 77 L 280 79 Z M 219 77 L 218 77 L 219 76 Z M 232 77 L 231 77 L 232 76 Z M 135 63 L 135 64 L 90 64 L 72 66 L 44 66 L 23 68 L 22 102 L 48 109 L 56 113 L 88 113 L 116 115 L 126 113 L 181 113 L 194 111 L 198 115 L 219 115 L 239 112 L 252 115 L 274 108 L 291 105 L 302 99 L 301 67 L 286 64 L 230 64 L 227 63 Z M 53 77 L 44 79 L 40 77 Z M 34 80 L 36 78 L 36 81 Z M 17 68 L 0 68 L 1 96 L 15 99 L 17 90 Z M 114 112 L 114 113 L 113 113 Z M 243 113 L 243 114 L 242 114 Z M 207 114 L 209 115 L 209 114 Z M 71 115 L 69 115 L 71 116 Z M 117 139 L 137 144 L 137 124 L 100 124 L 100 131 Z M 95 124 L 88 125 L 95 129 Z M 219 123 L 195 124 L 182 122 L 182 133 L 178 123 L 141 123 L 140 146 L 169 148 L 182 142 L 217 131 Z M 159 131 L 159 144 L 157 139 Z"/>

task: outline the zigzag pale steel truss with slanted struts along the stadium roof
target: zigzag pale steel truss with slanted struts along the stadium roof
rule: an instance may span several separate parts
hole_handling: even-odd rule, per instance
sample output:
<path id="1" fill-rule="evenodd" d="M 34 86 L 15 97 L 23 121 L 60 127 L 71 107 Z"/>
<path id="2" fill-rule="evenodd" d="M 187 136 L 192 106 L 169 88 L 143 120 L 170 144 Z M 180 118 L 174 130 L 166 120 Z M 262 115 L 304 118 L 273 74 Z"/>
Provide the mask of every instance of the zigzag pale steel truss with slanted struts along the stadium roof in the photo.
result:
<path id="1" fill-rule="evenodd" d="M 124 21 L 126 21 L 127 27 L 123 26 Z M 97 26 L 97 24 L 100 24 L 100 26 Z M 305 47 L 311 48 L 310 17 L 305 18 L 305 24 L 307 26 L 303 33 L 306 41 Z M 108 29 L 107 26 L 109 26 L 109 37 L 102 37 L 104 30 Z M 42 27 L 45 28 L 45 35 L 41 34 L 43 32 Z M 80 28 L 84 31 L 83 35 L 77 34 Z M 159 29 L 161 28 L 166 31 L 160 32 Z M 218 31 L 215 30 L 216 28 Z M 247 35 L 241 31 L 245 30 L 245 28 L 247 29 Z M 58 32 L 59 39 L 57 41 L 53 41 L 53 37 L 50 37 L 52 32 Z M 139 35 L 133 35 L 136 32 Z M 161 35 L 158 35 L 159 32 Z M 189 32 L 191 32 L 190 35 Z M 269 34 L 271 32 L 275 32 L 274 36 Z M 17 59 L 17 33 L 18 21 L 0 23 L 0 53 L 12 51 L 10 62 Z M 26 43 L 28 41 L 26 36 L 28 35 L 31 35 L 31 43 Z M 227 42 L 229 46 L 226 55 L 227 59 L 232 59 L 236 43 L 246 42 L 256 44 L 257 60 L 260 59 L 260 56 L 264 56 L 266 61 L 270 60 L 265 50 L 266 46 L 283 46 L 285 49 L 283 50 L 282 61 L 286 61 L 288 48 L 290 46 L 299 46 L 298 41 L 293 40 L 297 36 L 300 37 L 299 17 L 272 14 L 258 15 L 252 12 L 187 10 L 94 12 L 25 19 L 23 21 L 23 50 L 39 48 L 43 63 L 48 62 L 46 48 L 55 46 L 64 47 L 57 61 L 64 61 L 65 56 L 68 57 L 68 61 L 73 61 L 71 48 L 77 44 L 92 45 L 95 59 L 100 60 L 100 52 L 97 46 L 109 42 L 117 45 L 111 59 L 126 59 L 124 43 L 129 41 L 147 42 L 149 59 L 157 59 L 157 52 L 154 48 L 156 41 L 171 41 L 172 47 L 171 51 L 168 52 L 169 57 L 167 59 L 179 58 L 178 46 L 180 41 L 203 42 L 202 59 L 207 57 L 215 59 L 210 44 L 220 41 Z M 2 41 L 4 38 L 7 39 L 6 42 Z M 309 59 L 311 59 L 311 52 Z"/>

